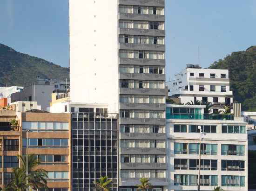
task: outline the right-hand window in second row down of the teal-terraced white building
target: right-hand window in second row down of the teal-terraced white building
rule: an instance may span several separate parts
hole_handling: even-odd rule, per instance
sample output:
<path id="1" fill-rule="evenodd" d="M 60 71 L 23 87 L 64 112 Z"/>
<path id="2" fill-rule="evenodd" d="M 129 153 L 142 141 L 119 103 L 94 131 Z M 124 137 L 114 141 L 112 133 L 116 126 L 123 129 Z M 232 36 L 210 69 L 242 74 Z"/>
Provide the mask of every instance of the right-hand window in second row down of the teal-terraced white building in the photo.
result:
<path id="1" fill-rule="evenodd" d="M 222 155 L 244 156 L 244 145 L 222 145 Z"/>

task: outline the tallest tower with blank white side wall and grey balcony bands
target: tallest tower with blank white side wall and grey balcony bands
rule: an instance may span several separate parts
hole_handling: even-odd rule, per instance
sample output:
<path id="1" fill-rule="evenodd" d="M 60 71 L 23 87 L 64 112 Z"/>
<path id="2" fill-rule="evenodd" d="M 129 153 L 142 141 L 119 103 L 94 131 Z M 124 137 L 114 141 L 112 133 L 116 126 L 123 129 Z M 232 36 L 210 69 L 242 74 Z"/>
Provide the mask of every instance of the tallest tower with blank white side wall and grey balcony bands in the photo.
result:
<path id="1" fill-rule="evenodd" d="M 70 0 L 70 100 L 119 113 L 119 181 L 167 186 L 164 0 Z M 85 189 L 86 190 L 86 189 Z"/>

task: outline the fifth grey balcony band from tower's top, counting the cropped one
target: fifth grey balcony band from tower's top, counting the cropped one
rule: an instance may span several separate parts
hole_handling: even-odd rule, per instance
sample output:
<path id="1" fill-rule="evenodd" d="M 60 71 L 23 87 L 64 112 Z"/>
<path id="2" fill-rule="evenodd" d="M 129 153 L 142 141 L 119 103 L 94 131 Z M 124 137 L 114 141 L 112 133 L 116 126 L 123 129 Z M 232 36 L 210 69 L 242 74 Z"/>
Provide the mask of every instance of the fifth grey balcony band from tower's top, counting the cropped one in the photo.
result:
<path id="1" fill-rule="evenodd" d="M 165 66 L 165 59 L 120 58 L 119 64 Z"/>

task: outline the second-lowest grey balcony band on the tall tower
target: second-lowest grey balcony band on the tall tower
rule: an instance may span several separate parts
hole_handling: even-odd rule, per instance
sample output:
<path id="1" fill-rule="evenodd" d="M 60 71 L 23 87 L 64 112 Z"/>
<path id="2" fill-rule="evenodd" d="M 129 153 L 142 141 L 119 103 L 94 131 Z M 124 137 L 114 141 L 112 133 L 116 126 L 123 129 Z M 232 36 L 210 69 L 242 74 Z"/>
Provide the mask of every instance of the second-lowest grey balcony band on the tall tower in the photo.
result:
<path id="1" fill-rule="evenodd" d="M 133 169 L 156 169 L 165 170 L 167 169 L 166 163 L 121 163 L 122 170 L 133 170 Z"/>

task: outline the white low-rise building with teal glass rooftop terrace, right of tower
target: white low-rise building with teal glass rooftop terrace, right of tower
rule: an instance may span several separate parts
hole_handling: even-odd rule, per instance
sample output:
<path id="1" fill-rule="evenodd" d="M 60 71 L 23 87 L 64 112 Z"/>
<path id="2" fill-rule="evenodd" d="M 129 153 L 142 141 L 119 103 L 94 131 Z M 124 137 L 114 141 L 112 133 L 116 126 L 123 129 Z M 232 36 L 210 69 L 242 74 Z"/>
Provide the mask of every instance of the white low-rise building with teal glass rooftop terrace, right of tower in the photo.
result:
<path id="1" fill-rule="evenodd" d="M 201 191 L 248 190 L 246 123 L 203 114 L 205 106 L 167 105 L 168 191 L 196 191 L 201 126 Z"/>

